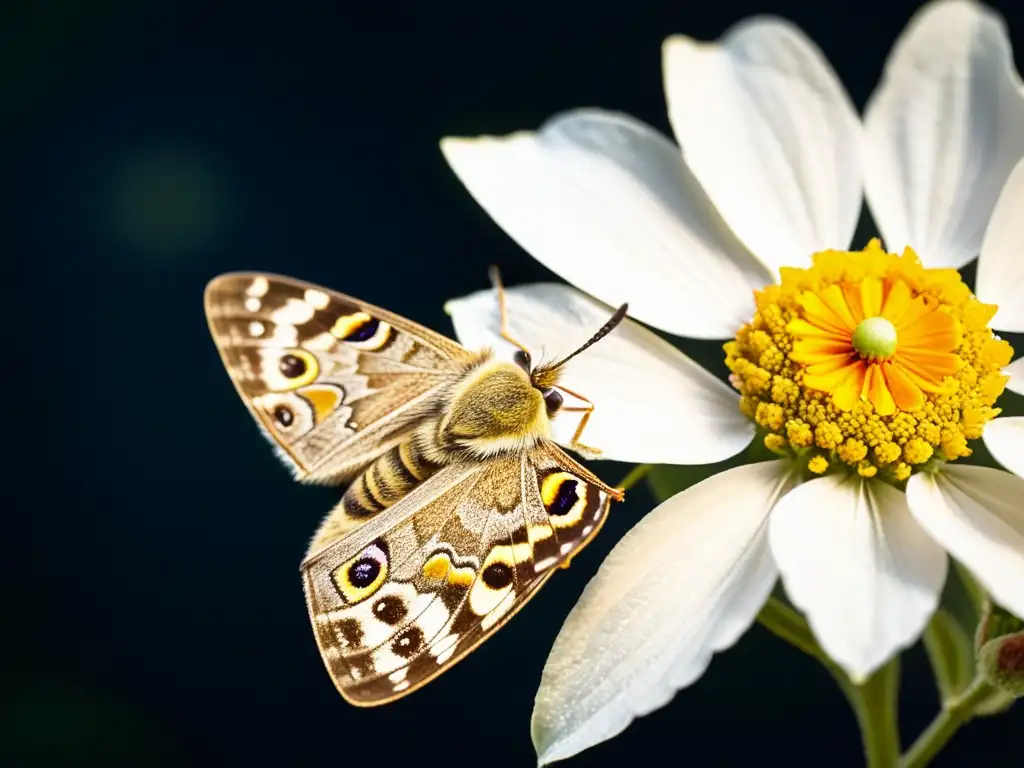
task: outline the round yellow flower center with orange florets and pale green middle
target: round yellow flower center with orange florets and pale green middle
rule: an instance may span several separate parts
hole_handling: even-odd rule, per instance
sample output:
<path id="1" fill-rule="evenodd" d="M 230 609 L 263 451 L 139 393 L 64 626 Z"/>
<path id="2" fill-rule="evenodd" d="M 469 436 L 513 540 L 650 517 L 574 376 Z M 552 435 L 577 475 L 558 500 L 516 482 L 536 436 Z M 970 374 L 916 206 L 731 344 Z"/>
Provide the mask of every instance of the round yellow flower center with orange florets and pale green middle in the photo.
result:
<path id="1" fill-rule="evenodd" d="M 905 480 L 932 459 L 971 455 L 999 414 L 1013 349 L 955 269 L 926 269 L 909 248 L 814 254 L 756 294 L 725 345 L 739 407 L 765 445 L 808 471 Z"/>

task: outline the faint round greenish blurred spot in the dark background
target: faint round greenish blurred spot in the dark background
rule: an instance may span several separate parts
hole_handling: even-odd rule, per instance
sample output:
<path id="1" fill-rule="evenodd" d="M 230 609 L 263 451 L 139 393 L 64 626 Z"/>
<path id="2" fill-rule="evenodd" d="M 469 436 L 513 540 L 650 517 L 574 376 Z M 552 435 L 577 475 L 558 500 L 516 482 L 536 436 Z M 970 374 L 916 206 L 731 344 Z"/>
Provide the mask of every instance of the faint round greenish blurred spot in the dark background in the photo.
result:
<path id="1" fill-rule="evenodd" d="M 148 150 L 115 167 L 106 202 L 114 234 L 126 248 L 161 259 L 215 246 L 227 225 L 224 179 L 208 159 L 182 150 Z"/>

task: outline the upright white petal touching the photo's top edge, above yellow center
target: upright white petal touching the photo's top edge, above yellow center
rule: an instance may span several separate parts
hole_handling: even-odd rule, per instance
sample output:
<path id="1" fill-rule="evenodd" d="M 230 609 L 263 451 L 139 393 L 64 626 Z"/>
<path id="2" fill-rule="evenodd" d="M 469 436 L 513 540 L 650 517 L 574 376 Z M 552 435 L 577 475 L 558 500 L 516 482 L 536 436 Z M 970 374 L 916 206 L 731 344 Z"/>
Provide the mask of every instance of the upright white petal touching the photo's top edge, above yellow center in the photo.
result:
<path id="1" fill-rule="evenodd" d="M 1001 18 L 964 0 L 926 5 L 864 120 L 867 200 L 888 249 L 910 246 L 930 267 L 968 263 L 1024 155 L 1024 93 Z"/>

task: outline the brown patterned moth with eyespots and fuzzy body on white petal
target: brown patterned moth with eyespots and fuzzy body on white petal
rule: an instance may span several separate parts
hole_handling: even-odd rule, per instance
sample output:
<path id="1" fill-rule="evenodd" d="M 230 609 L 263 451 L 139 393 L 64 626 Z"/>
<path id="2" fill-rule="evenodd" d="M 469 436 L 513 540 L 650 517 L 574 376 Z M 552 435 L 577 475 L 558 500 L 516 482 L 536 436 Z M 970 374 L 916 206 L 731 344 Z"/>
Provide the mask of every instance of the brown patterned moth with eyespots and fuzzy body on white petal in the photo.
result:
<path id="1" fill-rule="evenodd" d="M 559 386 L 559 372 L 627 306 L 571 354 L 534 365 L 492 278 L 512 360 L 290 278 L 230 273 L 206 289 L 224 367 L 285 465 L 301 482 L 348 484 L 300 571 L 324 664 L 359 707 L 464 658 L 623 499 L 552 441 L 550 425 L 577 412 L 571 447 L 597 453 L 580 442 L 594 404 Z"/>

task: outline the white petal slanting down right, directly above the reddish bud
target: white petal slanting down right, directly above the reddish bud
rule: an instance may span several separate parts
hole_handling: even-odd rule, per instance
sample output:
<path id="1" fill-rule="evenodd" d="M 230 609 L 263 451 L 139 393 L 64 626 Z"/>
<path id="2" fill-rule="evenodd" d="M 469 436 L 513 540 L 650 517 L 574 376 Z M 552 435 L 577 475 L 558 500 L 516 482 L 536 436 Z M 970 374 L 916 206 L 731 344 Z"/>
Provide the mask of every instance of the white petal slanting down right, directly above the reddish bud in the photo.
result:
<path id="1" fill-rule="evenodd" d="M 906 496 L 928 532 L 996 602 L 1024 616 L 1024 479 L 991 467 L 947 464 L 941 472 L 911 477 Z"/>

